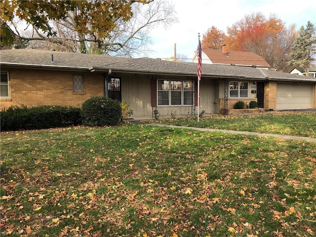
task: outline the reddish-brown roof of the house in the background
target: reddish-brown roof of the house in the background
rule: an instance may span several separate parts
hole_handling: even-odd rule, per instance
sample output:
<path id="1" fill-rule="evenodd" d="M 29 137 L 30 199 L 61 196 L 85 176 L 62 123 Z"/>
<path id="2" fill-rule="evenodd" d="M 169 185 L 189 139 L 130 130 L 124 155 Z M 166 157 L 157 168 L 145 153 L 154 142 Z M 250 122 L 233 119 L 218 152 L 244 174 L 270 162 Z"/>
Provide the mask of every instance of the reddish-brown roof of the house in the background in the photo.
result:
<path id="1" fill-rule="evenodd" d="M 253 52 L 227 51 L 222 53 L 220 49 L 203 48 L 202 52 L 215 64 L 235 64 L 244 66 L 270 67 L 263 57 Z"/>

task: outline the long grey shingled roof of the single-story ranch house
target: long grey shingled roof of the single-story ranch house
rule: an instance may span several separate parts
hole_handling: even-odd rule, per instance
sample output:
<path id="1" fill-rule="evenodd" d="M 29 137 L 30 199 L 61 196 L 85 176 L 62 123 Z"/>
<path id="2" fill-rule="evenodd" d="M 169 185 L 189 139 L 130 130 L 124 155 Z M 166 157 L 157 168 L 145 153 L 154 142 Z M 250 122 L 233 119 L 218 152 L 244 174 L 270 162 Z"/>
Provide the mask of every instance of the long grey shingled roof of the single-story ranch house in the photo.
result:
<path id="1" fill-rule="evenodd" d="M 1 50 L 0 66 L 1 68 L 79 70 L 86 72 L 112 70 L 112 72 L 124 73 L 197 77 L 196 63 L 170 62 L 147 57 L 135 59 L 37 49 Z M 272 70 L 216 64 L 202 64 L 203 78 L 316 81 L 310 77 Z"/>

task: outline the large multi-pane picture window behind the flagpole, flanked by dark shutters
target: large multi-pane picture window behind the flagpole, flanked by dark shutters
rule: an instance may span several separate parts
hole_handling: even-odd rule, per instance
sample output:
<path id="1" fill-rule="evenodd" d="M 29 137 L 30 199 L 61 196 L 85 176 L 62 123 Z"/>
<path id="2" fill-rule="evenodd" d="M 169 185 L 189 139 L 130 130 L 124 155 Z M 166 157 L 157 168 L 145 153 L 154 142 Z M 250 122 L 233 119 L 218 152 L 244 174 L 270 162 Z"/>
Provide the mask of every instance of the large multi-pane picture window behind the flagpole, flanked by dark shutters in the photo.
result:
<path id="1" fill-rule="evenodd" d="M 193 105 L 193 81 L 158 80 L 158 106 Z"/>

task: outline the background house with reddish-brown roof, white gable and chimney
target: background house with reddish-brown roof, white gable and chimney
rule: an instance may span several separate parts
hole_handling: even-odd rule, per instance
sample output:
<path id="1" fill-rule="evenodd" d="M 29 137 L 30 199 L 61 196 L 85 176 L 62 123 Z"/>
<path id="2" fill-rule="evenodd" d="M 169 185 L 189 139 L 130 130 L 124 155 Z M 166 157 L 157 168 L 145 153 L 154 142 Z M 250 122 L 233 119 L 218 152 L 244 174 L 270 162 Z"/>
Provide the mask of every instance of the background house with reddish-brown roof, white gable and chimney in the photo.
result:
<path id="1" fill-rule="evenodd" d="M 197 54 L 193 61 L 197 63 Z M 227 51 L 227 46 L 222 49 L 202 48 L 202 63 L 248 66 L 260 69 L 269 69 L 271 66 L 261 56 L 253 52 Z"/>

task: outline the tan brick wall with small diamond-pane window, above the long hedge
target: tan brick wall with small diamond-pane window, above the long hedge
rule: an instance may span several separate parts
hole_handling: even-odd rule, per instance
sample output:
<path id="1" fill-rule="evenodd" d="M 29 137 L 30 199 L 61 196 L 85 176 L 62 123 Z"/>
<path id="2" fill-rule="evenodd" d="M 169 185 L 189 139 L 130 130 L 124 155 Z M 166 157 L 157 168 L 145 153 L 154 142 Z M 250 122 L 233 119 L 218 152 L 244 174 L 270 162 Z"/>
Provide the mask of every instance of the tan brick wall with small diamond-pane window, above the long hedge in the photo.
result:
<path id="1" fill-rule="evenodd" d="M 10 99 L 0 99 L 1 110 L 19 104 L 80 107 L 92 96 L 104 96 L 102 74 L 23 69 L 7 71 L 9 72 Z M 83 75 L 84 92 L 73 91 L 74 75 Z"/>

